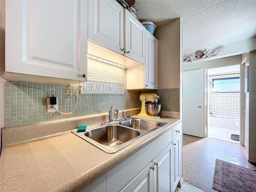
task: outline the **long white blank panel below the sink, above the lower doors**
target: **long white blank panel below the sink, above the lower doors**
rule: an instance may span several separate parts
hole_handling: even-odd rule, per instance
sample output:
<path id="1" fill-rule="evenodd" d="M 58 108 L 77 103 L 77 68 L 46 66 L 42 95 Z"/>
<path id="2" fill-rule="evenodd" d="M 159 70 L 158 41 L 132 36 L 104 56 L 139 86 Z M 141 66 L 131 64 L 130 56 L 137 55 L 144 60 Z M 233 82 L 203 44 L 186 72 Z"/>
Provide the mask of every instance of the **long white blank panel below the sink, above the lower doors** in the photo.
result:
<path id="1" fill-rule="evenodd" d="M 133 190 L 138 187 L 138 180 L 134 183 L 134 178 L 139 177 L 142 170 L 151 164 L 164 149 L 172 143 L 172 130 L 169 130 L 136 154 L 106 173 L 106 192 L 118 192 L 123 190 L 129 184 L 134 186 Z M 156 162 L 157 163 L 157 162 Z M 152 172 L 152 169 L 148 172 Z M 146 176 L 144 172 L 144 176 Z M 150 176 L 150 174 L 148 174 Z M 150 180 L 150 179 L 149 179 Z M 148 181 L 146 182 L 148 183 Z M 150 182 L 149 182 L 150 183 Z M 150 189 L 150 186 L 148 187 Z M 153 189 L 152 189 L 153 190 Z"/>

